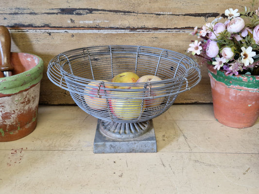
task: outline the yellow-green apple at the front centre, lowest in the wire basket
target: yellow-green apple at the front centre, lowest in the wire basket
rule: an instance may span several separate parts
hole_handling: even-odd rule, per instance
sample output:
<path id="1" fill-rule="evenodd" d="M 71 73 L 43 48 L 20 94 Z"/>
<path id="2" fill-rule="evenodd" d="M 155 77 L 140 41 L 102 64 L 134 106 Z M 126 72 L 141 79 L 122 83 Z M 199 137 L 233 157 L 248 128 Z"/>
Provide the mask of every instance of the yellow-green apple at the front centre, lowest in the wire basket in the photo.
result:
<path id="1" fill-rule="evenodd" d="M 143 112 L 145 108 L 144 104 L 142 104 L 141 99 L 143 92 L 128 91 L 128 89 L 140 89 L 139 87 L 120 86 L 117 87 L 117 89 L 120 89 L 120 91 L 112 91 L 112 98 L 109 99 L 111 113 L 123 120 L 131 120 L 138 118 L 141 111 Z M 134 99 L 138 97 L 139 99 Z"/>

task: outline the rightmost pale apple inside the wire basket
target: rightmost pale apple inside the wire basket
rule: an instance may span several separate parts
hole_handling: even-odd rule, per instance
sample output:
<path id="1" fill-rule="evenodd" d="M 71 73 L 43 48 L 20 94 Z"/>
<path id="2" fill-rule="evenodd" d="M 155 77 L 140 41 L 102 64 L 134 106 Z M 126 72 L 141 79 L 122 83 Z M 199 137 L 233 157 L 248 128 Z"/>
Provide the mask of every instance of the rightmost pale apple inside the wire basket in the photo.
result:
<path id="1" fill-rule="evenodd" d="M 138 79 L 137 83 L 141 83 L 141 82 L 148 83 L 148 82 L 152 82 L 152 81 L 162 81 L 162 79 L 157 76 L 154 76 L 154 75 L 145 75 L 145 76 L 140 77 Z M 159 106 L 163 102 L 164 97 L 156 97 L 156 96 L 161 96 L 161 95 L 166 94 L 165 90 L 161 91 L 157 88 L 157 87 L 161 87 L 164 85 L 165 84 L 163 84 L 163 83 L 162 84 L 153 84 L 153 85 L 151 85 L 151 87 L 147 85 L 148 91 L 146 92 L 145 96 L 152 98 L 152 99 L 145 99 L 145 106 L 147 108 Z M 156 88 L 156 89 L 153 89 L 153 88 Z"/>

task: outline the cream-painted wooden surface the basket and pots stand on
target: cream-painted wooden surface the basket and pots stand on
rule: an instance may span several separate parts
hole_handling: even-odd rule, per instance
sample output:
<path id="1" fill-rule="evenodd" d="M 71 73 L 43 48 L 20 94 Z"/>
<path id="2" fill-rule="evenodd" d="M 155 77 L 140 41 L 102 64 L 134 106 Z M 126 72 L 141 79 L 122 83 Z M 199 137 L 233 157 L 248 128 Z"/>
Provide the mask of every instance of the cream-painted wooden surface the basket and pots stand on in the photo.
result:
<path id="1" fill-rule="evenodd" d="M 212 105 L 154 120 L 156 153 L 94 154 L 97 119 L 39 107 L 33 133 L 0 143 L 0 194 L 259 194 L 259 120 L 225 127 Z"/>

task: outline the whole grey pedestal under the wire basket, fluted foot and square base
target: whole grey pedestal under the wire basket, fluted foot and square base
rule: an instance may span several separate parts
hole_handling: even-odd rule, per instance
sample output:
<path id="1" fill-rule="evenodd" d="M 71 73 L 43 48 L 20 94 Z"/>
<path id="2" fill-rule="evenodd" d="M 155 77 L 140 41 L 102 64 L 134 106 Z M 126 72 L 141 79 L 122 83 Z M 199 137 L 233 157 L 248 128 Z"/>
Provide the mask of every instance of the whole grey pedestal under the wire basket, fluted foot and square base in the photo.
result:
<path id="1" fill-rule="evenodd" d="M 116 123 L 98 119 L 93 152 L 156 152 L 153 121 Z"/>

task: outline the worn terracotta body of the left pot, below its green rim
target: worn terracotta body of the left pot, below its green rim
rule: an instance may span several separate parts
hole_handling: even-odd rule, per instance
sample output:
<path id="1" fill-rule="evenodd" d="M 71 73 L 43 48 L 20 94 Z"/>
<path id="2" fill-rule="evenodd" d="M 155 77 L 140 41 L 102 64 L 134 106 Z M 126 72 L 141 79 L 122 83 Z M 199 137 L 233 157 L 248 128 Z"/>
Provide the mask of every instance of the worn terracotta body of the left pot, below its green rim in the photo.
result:
<path id="1" fill-rule="evenodd" d="M 0 142 L 31 133 L 36 126 L 40 82 L 15 95 L 0 97 Z"/>

